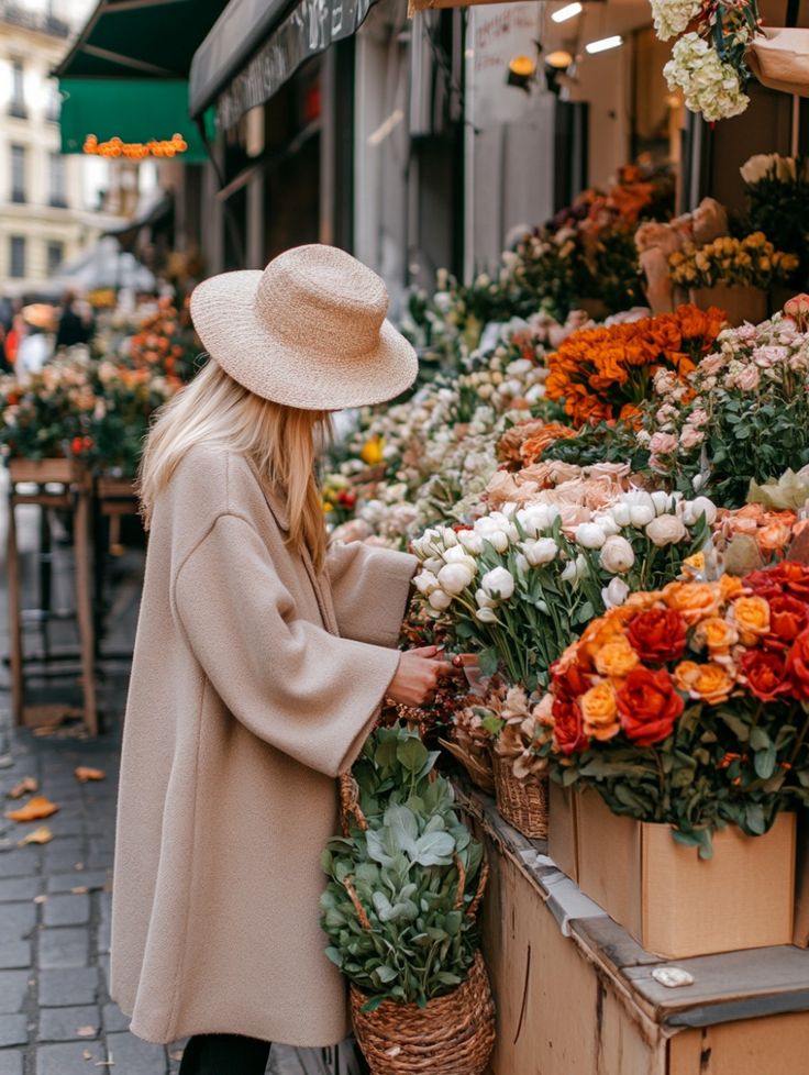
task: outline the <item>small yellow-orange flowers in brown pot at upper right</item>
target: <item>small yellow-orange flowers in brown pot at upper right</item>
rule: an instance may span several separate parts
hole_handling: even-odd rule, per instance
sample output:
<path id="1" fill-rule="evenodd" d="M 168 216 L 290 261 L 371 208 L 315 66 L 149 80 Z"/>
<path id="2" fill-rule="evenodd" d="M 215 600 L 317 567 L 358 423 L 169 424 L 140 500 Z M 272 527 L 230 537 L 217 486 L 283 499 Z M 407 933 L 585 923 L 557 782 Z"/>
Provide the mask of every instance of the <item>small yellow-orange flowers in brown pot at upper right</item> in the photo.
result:
<path id="1" fill-rule="evenodd" d="M 722 306 L 732 325 L 763 321 L 765 291 L 785 284 L 798 268 L 798 257 L 777 251 L 763 232 L 744 239 L 729 235 L 697 246 L 687 243 L 668 259 L 672 281 L 689 288 L 691 302 L 705 309 Z"/>

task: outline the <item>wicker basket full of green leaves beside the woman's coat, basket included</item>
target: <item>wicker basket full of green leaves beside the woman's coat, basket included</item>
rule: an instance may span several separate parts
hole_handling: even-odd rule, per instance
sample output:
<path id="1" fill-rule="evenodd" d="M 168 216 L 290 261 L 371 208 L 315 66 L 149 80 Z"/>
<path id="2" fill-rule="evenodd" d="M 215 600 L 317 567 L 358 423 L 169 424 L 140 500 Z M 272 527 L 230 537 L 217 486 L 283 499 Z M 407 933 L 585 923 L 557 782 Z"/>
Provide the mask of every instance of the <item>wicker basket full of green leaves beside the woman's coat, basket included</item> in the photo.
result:
<path id="1" fill-rule="evenodd" d="M 483 1075 L 495 1041 L 475 921 L 487 868 L 436 758 L 415 731 L 379 729 L 323 855 L 326 954 L 373 1075 Z"/>

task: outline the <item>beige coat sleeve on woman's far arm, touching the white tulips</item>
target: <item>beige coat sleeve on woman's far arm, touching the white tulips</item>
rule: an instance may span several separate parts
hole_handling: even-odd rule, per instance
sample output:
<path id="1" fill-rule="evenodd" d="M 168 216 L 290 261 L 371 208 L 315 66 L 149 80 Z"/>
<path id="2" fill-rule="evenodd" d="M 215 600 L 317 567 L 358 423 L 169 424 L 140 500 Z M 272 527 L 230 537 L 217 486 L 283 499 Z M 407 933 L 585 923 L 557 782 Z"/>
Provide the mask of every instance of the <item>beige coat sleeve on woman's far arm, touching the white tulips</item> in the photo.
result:
<path id="1" fill-rule="evenodd" d="M 359 642 L 395 646 L 418 561 L 392 548 L 335 542 L 326 570 L 340 633 Z"/>

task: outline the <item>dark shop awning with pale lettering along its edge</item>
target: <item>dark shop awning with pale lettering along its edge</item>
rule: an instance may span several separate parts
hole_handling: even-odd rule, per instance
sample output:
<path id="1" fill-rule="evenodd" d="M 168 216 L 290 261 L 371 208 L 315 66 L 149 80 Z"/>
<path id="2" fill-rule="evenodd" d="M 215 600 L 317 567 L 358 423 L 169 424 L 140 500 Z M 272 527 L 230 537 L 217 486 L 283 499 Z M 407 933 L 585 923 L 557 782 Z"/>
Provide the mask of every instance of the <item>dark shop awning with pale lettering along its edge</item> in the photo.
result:
<path id="1" fill-rule="evenodd" d="M 221 130 L 268 101 L 310 56 L 350 37 L 376 0 L 231 0 L 191 63 L 192 117 L 217 103 Z"/>

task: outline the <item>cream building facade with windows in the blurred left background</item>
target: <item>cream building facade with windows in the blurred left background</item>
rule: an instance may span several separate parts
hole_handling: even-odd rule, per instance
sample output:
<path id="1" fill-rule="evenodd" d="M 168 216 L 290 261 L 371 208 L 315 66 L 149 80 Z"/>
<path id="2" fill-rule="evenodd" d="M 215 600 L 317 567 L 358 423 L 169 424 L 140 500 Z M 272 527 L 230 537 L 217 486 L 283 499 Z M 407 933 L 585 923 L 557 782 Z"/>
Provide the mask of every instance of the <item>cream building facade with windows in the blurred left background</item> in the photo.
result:
<path id="1" fill-rule="evenodd" d="M 92 0 L 0 0 L 0 289 L 35 296 L 99 234 L 107 162 L 59 152 L 51 71 Z"/>

